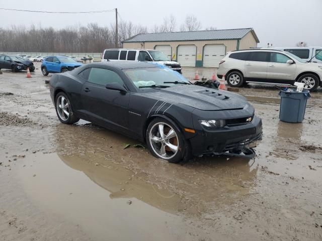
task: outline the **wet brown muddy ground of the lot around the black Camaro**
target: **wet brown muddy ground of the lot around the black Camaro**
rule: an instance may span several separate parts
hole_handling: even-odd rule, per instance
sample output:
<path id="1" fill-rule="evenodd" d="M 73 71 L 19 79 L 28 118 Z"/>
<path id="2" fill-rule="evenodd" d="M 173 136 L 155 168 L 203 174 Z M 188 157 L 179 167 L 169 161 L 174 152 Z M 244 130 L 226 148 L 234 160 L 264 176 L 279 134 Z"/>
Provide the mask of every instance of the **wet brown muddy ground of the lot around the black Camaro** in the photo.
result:
<path id="1" fill-rule="evenodd" d="M 254 160 L 178 165 L 91 123 L 59 123 L 50 77 L 25 76 L 0 75 L 0 240 L 322 240 L 321 91 L 302 124 L 252 101 L 264 128 Z"/>

